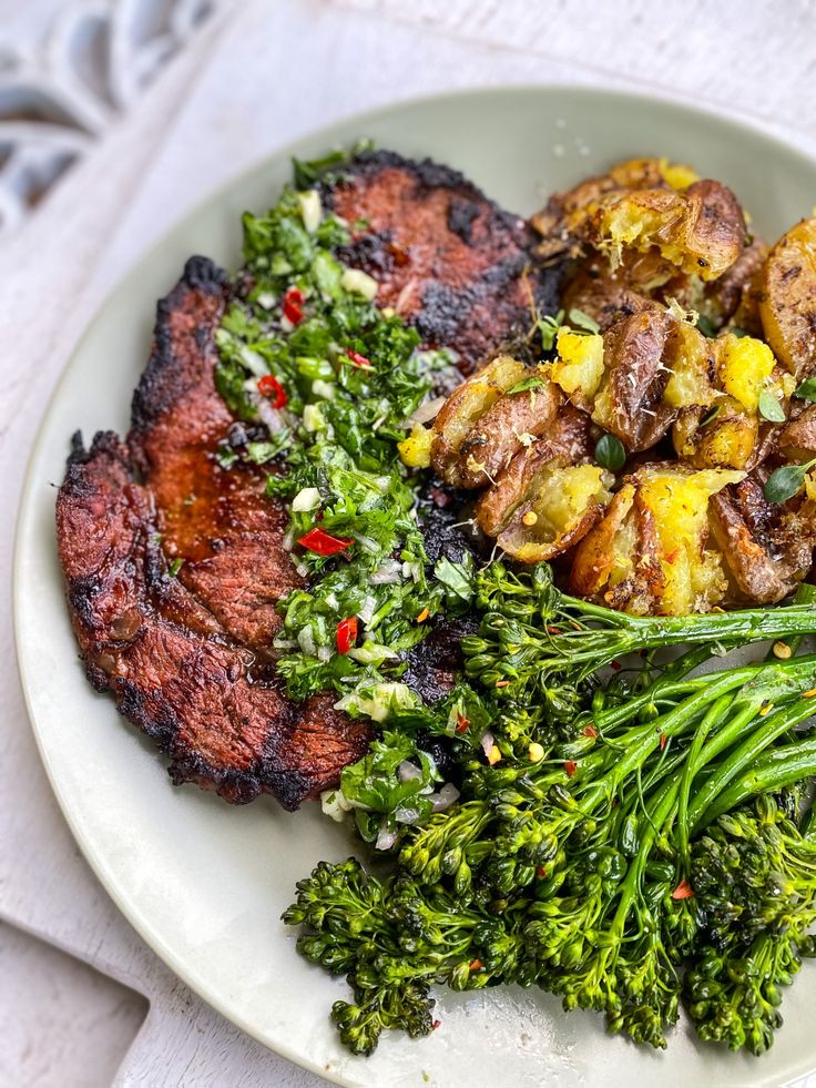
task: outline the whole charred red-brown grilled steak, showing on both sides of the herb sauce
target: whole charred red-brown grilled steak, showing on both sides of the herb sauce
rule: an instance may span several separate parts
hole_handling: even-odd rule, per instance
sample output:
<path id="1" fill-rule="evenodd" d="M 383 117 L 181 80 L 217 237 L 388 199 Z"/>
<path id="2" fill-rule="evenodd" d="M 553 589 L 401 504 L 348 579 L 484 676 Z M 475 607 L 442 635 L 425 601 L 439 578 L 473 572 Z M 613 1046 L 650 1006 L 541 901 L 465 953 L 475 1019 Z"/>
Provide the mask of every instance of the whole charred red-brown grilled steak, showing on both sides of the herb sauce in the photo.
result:
<path id="1" fill-rule="evenodd" d="M 340 256 L 380 281 L 379 301 L 428 346 L 453 346 L 466 370 L 523 334 L 531 303 L 544 308 L 555 289 L 552 273 L 527 274 L 527 227 L 446 167 L 367 155 L 324 197 L 369 224 Z M 225 470 L 216 456 L 235 426 L 214 384 L 230 289 L 193 257 L 159 303 L 126 440 L 99 434 L 69 460 L 60 560 L 89 679 L 170 756 L 173 781 L 233 803 L 268 792 L 296 809 L 336 784 L 371 734 L 332 694 L 290 703 L 269 659 L 275 606 L 300 581 L 265 470 Z"/>

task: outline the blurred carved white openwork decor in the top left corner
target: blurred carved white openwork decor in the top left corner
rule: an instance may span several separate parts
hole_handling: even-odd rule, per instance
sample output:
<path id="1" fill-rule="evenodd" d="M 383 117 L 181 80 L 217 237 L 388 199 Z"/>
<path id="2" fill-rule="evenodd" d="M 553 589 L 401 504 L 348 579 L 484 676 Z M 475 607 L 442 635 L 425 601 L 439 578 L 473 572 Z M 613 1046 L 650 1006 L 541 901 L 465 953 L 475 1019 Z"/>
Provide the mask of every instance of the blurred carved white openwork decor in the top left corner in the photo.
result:
<path id="1" fill-rule="evenodd" d="M 129 109 L 215 0 L 84 0 L 34 44 L 0 43 L 0 238 Z"/>

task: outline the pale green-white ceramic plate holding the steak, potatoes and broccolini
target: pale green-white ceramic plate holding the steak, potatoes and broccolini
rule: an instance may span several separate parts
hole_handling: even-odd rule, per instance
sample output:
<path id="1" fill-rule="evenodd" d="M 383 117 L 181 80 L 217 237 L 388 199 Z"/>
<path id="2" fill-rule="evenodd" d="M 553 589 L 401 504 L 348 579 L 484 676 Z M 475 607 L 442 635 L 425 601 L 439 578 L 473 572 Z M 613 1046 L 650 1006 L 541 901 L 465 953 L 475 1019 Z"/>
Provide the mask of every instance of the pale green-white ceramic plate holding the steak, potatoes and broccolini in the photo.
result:
<path id="1" fill-rule="evenodd" d="M 445 994 L 442 1026 L 411 1041 L 395 1034 L 370 1059 L 349 1057 L 328 1021 L 346 994 L 302 960 L 279 915 L 295 881 L 350 837 L 315 806 L 273 801 L 233 809 L 192 786 L 173 789 L 150 742 L 84 679 L 57 563 L 49 485 L 62 479 L 69 436 L 128 426 L 145 363 L 154 303 L 185 258 L 235 266 L 239 215 L 276 197 L 289 155 L 312 157 L 370 136 L 462 170 L 514 212 L 609 163 L 659 154 L 732 185 L 769 238 L 810 213 L 816 164 L 751 129 L 691 109 L 618 93 L 527 88 L 409 103 L 300 141 L 216 193 L 135 268 L 93 322 L 49 406 L 20 512 L 16 623 L 31 721 L 76 841 L 144 939 L 218 1011 L 293 1061 L 344 1085 L 781 1085 L 816 1068 L 816 968 L 785 997 L 785 1028 L 755 1059 L 698 1045 L 681 1025 L 667 1054 L 608 1038 L 600 1017 L 565 1016 L 538 993 Z"/>

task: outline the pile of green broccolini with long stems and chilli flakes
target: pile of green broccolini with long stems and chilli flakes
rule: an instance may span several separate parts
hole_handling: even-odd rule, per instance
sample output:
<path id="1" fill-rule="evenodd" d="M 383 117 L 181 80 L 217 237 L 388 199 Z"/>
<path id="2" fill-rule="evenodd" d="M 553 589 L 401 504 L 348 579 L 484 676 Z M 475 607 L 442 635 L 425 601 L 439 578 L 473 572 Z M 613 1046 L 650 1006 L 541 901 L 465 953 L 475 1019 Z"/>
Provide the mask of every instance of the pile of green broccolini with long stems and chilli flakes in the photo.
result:
<path id="1" fill-rule="evenodd" d="M 390 876 L 322 863 L 284 919 L 348 975 L 343 1041 L 428 1034 L 430 983 L 519 983 L 657 1047 L 685 996 L 704 1038 L 767 1047 L 814 946 L 816 842 L 768 794 L 794 757 L 816 773 L 816 741 L 794 740 L 815 682 L 816 657 L 660 679 L 533 764 L 471 759 L 462 803 L 406 830 Z"/>

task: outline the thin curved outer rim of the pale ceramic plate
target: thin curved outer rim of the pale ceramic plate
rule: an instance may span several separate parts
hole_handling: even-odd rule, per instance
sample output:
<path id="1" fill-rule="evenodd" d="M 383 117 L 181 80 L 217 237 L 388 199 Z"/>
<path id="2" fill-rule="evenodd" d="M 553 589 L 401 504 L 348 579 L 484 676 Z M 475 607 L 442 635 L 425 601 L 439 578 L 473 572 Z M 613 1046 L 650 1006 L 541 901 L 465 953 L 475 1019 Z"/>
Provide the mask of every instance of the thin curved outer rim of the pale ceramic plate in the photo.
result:
<path id="1" fill-rule="evenodd" d="M 17 665 L 17 673 L 20 680 L 20 687 L 23 694 L 23 702 L 26 706 L 26 713 L 29 722 L 31 732 L 34 735 L 34 741 L 37 744 L 37 750 L 39 753 L 40 761 L 45 771 L 49 786 L 57 800 L 60 807 L 60 812 L 68 824 L 71 835 L 76 843 L 83 858 L 89 864 L 91 871 L 93 872 L 95 878 L 100 882 L 105 893 L 110 896 L 116 906 L 116 909 L 124 916 L 125 921 L 133 927 L 139 937 L 144 940 L 149 948 L 167 966 L 182 982 L 210 1008 L 216 1011 L 218 1015 L 223 1016 L 230 1024 L 237 1027 L 239 1030 L 244 1031 L 252 1039 L 263 1046 L 265 1049 L 272 1051 L 273 1054 L 279 1055 L 286 1060 L 290 1061 L 298 1068 L 306 1069 L 309 1072 L 315 1074 L 317 1077 L 323 1078 L 332 1084 L 347 1086 L 347 1088 L 354 1088 L 359 1081 L 350 1079 L 347 1076 L 341 1075 L 339 1071 L 335 1074 L 334 1069 L 326 1069 L 325 1066 L 317 1061 L 310 1060 L 307 1055 L 299 1051 L 290 1049 L 285 1039 L 279 1043 L 275 1043 L 273 1046 L 267 1038 L 262 1037 L 262 1035 L 253 1028 L 253 1026 L 246 1021 L 242 1016 L 236 1015 L 231 1010 L 230 1006 L 218 999 L 217 995 L 207 994 L 206 987 L 203 983 L 200 983 L 195 976 L 187 969 L 184 960 L 176 957 L 173 948 L 167 945 L 159 933 L 151 925 L 150 918 L 146 914 L 141 912 L 133 899 L 126 895 L 120 894 L 113 873 L 109 866 L 105 865 L 103 852 L 98 852 L 92 842 L 84 837 L 79 830 L 72 814 L 72 806 L 60 789 L 59 776 L 55 773 L 52 762 L 49 757 L 48 750 L 45 746 L 45 741 L 40 732 L 37 723 L 37 715 L 34 713 L 33 696 L 29 689 L 30 679 L 27 671 L 27 649 L 22 644 L 22 610 L 26 607 L 23 604 L 23 573 L 22 573 L 22 551 L 23 551 L 23 537 L 26 535 L 26 529 L 28 522 L 30 521 L 33 512 L 35 511 L 35 488 L 34 488 L 34 468 L 40 459 L 42 447 L 45 445 L 47 433 L 49 420 L 51 418 L 52 411 L 57 401 L 59 400 L 63 387 L 67 385 L 69 379 L 69 374 L 71 372 L 72 365 L 76 356 L 84 348 L 85 343 L 91 338 L 96 325 L 102 321 L 104 312 L 110 303 L 110 299 L 119 295 L 123 291 L 130 281 L 135 281 L 143 266 L 149 264 L 167 243 L 167 240 L 176 231 L 182 231 L 190 221 L 196 218 L 203 211 L 203 209 L 211 204 L 221 201 L 230 191 L 238 185 L 244 179 L 262 170 L 265 163 L 273 160 L 282 160 L 285 157 L 292 159 L 293 152 L 295 152 L 305 142 L 318 141 L 322 136 L 327 138 L 343 125 L 348 125 L 351 123 L 358 123 L 363 130 L 366 124 L 373 121 L 377 121 L 382 118 L 387 118 L 390 114 L 399 113 L 402 110 L 412 110 L 416 108 L 422 108 L 430 105 L 439 100 L 465 100 L 465 99 L 478 99 L 479 96 L 503 96 L 511 95 L 513 93 L 563 93 L 572 98 L 584 99 L 586 101 L 598 100 L 600 98 L 604 99 L 604 104 L 609 105 L 614 103 L 616 100 L 623 108 L 628 104 L 635 103 L 659 103 L 661 106 L 672 110 L 679 114 L 696 115 L 701 119 L 715 120 L 724 122 L 741 132 L 747 134 L 748 136 L 759 136 L 763 140 L 769 141 L 775 144 L 779 151 L 784 151 L 786 155 L 793 155 L 798 159 L 803 164 L 816 171 L 816 145 L 813 150 L 809 150 L 807 145 L 798 145 L 794 143 L 796 130 L 792 130 L 789 136 L 786 136 L 783 132 L 776 130 L 773 125 L 768 125 L 761 118 L 751 119 L 746 118 L 744 114 L 738 112 L 733 112 L 728 106 L 723 105 L 710 105 L 708 103 L 700 103 L 691 99 L 685 99 L 683 95 L 672 94 L 671 92 L 665 92 L 661 89 L 655 89 L 654 91 L 639 91 L 632 88 L 622 88 L 611 84 L 586 84 L 586 83 L 574 83 L 569 81 L 523 81 L 519 83 L 514 82 L 502 82 L 497 84 L 470 84 L 467 87 L 447 89 L 441 91 L 435 91 L 429 94 L 418 94 L 408 95 L 406 98 L 396 99 L 389 101 L 385 104 L 378 105 L 373 109 L 363 111 L 351 111 L 349 113 L 343 113 L 332 121 L 315 126 L 309 128 L 306 131 L 299 133 L 295 138 L 287 140 L 279 146 L 267 149 L 262 155 L 251 160 L 247 165 L 243 169 L 231 174 L 225 181 L 218 183 L 210 190 L 206 190 L 200 197 L 197 197 L 193 204 L 183 214 L 178 215 L 176 218 L 172 220 L 167 226 L 162 231 L 157 238 L 155 238 L 144 251 L 142 251 L 135 260 L 128 263 L 125 270 L 113 281 L 112 285 L 105 292 L 102 299 L 99 302 L 93 311 L 92 316 L 89 318 L 84 325 L 82 332 L 75 337 L 71 348 L 69 349 L 59 376 L 54 383 L 54 386 L 45 399 L 43 410 L 41 413 L 40 419 L 37 424 L 37 430 L 34 439 L 31 444 L 27 461 L 26 469 L 22 476 L 22 482 L 20 488 L 20 498 L 18 501 L 17 516 L 16 516 L 16 527 L 13 533 L 13 557 L 11 566 L 11 619 L 12 619 L 12 630 L 13 630 L 13 648 L 14 658 Z M 803 135 L 803 141 L 807 141 L 807 136 Z M 456 164 L 452 164 L 456 169 Z M 52 541 L 53 542 L 53 541 Z M 814 1054 L 816 1058 L 816 1051 Z M 757 1070 L 759 1071 L 759 1070 Z M 808 1072 L 816 1071 L 816 1065 L 808 1064 L 807 1067 L 797 1068 L 794 1072 L 794 1077 L 806 1076 Z M 756 1085 L 765 1084 L 764 1078 L 759 1078 L 755 1081 Z"/>

